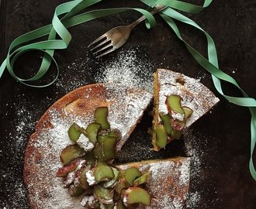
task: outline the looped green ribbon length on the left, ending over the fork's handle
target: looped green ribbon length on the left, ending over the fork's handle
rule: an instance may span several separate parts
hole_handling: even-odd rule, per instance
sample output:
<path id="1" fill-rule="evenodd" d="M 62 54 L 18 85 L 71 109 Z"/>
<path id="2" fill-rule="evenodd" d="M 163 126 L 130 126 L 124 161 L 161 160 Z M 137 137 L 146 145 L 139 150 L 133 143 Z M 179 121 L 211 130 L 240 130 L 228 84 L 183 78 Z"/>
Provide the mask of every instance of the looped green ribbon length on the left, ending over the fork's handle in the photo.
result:
<path id="1" fill-rule="evenodd" d="M 0 77 L 7 68 L 9 73 L 14 77 L 17 81 L 22 84 L 26 84 L 30 87 L 47 87 L 50 84 L 53 84 L 57 80 L 57 76 L 59 74 L 59 68 L 57 66 L 57 62 L 54 59 L 54 50 L 63 50 L 67 49 L 67 46 L 71 42 L 71 34 L 68 32 L 67 28 L 72 26 L 77 26 L 81 23 L 88 22 L 93 19 L 97 19 L 99 17 L 103 17 L 106 15 L 113 15 L 119 12 L 125 12 L 127 10 L 131 10 L 133 8 L 120 8 L 120 9 L 99 9 L 90 12 L 85 12 L 77 15 L 81 9 L 85 9 L 90 5 L 93 5 L 101 0 L 75 0 L 72 2 L 67 2 L 61 5 L 58 5 L 54 12 L 54 18 L 52 20 L 52 24 L 48 26 L 43 26 L 40 29 L 35 29 L 32 32 L 26 33 L 22 36 L 19 36 L 15 39 L 11 45 L 9 46 L 9 50 L 7 53 L 6 59 L 3 61 L 0 67 Z M 147 28 L 150 29 L 156 25 L 154 16 L 147 12 L 144 9 L 133 9 L 137 12 L 142 13 L 146 16 L 147 19 Z M 64 15 L 62 19 L 59 19 L 59 15 Z M 56 36 L 60 36 L 61 39 L 56 39 Z M 29 43 L 35 39 L 38 39 L 43 36 L 48 36 L 48 39 L 45 41 L 40 41 L 36 43 Z M 29 43 L 29 44 L 26 44 Z M 16 49 L 16 50 L 14 50 Z M 13 67 L 14 63 L 18 59 L 22 53 L 26 53 L 30 50 L 40 50 L 44 52 L 43 60 L 40 66 L 40 69 L 37 71 L 36 75 L 29 79 L 22 79 L 21 77 L 16 76 L 14 73 Z M 47 73 L 47 70 L 50 67 L 51 61 L 54 60 L 57 75 L 54 77 L 53 81 L 50 81 L 49 84 L 45 85 L 33 85 L 29 84 L 29 81 L 36 81 L 43 77 L 44 74 Z"/>

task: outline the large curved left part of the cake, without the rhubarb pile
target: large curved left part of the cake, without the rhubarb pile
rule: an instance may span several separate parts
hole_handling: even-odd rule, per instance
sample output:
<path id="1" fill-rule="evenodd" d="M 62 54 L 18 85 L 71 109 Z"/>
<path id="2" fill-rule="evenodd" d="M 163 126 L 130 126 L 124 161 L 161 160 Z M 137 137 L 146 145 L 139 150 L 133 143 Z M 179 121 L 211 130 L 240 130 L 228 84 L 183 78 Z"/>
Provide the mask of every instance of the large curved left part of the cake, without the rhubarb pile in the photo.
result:
<path id="1" fill-rule="evenodd" d="M 121 149 L 140 122 L 152 94 L 123 84 L 92 84 L 80 87 L 54 103 L 36 124 L 26 147 L 23 176 L 32 208 L 85 208 L 70 197 L 63 180 L 56 177 L 62 166 L 61 150 L 71 144 L 67 129 L 73 122 L 86 127 L 95 109 L 109 109 L 109 123 L 121 132 L 116 150 Z"/>

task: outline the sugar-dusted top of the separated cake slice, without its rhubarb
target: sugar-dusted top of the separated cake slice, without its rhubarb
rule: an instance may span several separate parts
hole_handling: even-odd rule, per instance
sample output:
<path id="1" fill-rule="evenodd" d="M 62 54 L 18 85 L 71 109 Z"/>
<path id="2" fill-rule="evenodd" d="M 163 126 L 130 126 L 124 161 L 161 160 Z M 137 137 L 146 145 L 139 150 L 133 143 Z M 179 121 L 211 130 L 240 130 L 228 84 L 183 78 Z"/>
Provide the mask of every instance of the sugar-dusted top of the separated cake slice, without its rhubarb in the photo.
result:
<path id="1" fill-rule="evenodd" d="M 193 110 L 185 127 L 189 127 L 202 115 L 205 115 L 220 99 L 212 91 L 192 77 L 171 70 L 157 69 L 157 87 L 159 87 L 159 113 L 167 114 L 166 98 L 170 94 L 178 94 L 182 98 L 182 106 Z"/>

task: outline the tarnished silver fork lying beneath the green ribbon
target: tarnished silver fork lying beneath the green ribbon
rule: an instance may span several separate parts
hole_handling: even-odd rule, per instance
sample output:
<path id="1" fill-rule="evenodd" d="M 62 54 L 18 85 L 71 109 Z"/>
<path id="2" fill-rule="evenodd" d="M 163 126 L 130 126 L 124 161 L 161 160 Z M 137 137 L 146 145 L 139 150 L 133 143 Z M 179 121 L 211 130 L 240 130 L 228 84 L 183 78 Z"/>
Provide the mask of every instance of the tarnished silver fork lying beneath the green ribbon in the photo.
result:
<path id="1" fill-rule="evenodd" d="M 165 8 L 167 8 L 166 5 L 155 5 L 150 13 L 154 15 Z M 102 36 L 95 39 L 94 42 L 88 45 L 88 47 L 91 47 L 92 45 L 96 44 L 96 46 L 94 46 L 90 51 L 96 50 L 93 54 L 102 52 L 97 56 L 98 58 L 117 50 L 120 46 L 123 46 L 123 44 L 126 43 L 126 40 L 129 38 L 130 32 L 133 30 L 133 28 L 140 22 L 144 21 L 144 19 L 146 19 L 146 17 L 143 15 L 140 17 L 140 19 L 137 19 L 128 26 L 118 26 L 110 29 L 107 33 L 104 33 Z"/>

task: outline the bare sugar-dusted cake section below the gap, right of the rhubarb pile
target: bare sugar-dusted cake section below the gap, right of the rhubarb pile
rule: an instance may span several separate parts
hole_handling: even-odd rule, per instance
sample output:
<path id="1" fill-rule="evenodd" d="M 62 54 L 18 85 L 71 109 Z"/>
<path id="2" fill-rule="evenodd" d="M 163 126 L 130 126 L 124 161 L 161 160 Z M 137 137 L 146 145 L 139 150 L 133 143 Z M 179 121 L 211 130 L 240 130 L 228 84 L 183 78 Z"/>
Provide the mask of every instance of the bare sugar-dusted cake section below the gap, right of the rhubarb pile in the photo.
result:
<path id="1" fill-rule="evenodd" d="M 175 208 L 185 207 L 189 194 L 190 158 L 151 159 L 138 163 L 117 166 L 120 170 L 136 167 L 141 173 L 152 171 L 145 190 L 150 194 L 151 204 L 140 204 L 137 208 Z"/>

